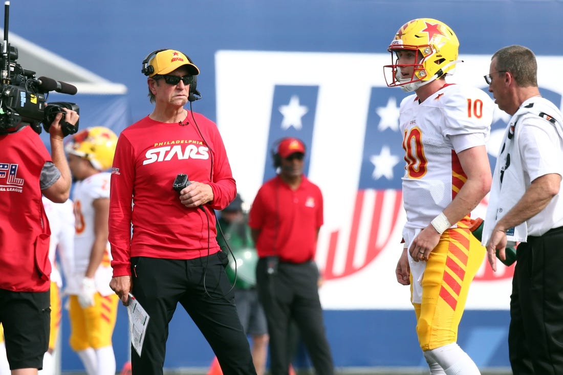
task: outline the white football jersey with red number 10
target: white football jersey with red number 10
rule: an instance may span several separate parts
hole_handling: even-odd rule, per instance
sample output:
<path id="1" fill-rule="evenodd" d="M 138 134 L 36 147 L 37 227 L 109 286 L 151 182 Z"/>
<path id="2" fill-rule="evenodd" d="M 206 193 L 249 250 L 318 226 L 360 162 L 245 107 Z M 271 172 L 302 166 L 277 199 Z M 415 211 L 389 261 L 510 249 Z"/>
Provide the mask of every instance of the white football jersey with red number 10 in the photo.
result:
<path id="1" fill-rule="evenodd" d="M 467 180 L 457 153 L 485 145 L 494 102 L 478 88 L 448 84 L 423 102 L 401 102 L 406 227 L 425 228 Z"/>

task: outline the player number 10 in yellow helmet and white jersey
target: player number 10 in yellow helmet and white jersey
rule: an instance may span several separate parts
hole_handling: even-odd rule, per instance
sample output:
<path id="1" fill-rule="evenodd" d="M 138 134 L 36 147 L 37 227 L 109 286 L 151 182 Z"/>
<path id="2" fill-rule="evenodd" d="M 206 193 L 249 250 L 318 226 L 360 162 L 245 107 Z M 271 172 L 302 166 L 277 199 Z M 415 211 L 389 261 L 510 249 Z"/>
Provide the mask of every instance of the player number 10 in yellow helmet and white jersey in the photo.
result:
<path id="1" fill-rule="evenodd" d="M 446 83 L 460 62 L 458 47 L 444 23 L 415 19 L 397 31 L 388 47 L 394 63 L 384 68 L 387 86 L 415 92 L 400 106 L 407 222 L 396 276 L 411 285 L 418 340 L 432 375 L 480 373 L 456 341 L 485 256 L 468 225 L 490 189 L 485 141 L 493 102 L 477 88 Z"/>

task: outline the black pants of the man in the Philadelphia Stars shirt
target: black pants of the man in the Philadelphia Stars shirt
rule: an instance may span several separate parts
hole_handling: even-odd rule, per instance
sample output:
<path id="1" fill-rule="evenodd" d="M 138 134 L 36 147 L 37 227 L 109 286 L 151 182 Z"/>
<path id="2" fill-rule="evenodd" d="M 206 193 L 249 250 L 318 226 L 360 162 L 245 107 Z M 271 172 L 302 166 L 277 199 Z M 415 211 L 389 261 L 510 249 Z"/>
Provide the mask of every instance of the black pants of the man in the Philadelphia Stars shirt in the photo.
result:
<path id="1" fill-rule="evenodd" d="M 150 316 L 141 357 L 131 347 L 134 375 L 163 373 L 168 324 L 178 302 L 215 352 L 225 375 L 256 375 L 234 293 L 229 292 L 226 262 L 222 252 L 193 260 L 132 258 L 132 293 Z"/>

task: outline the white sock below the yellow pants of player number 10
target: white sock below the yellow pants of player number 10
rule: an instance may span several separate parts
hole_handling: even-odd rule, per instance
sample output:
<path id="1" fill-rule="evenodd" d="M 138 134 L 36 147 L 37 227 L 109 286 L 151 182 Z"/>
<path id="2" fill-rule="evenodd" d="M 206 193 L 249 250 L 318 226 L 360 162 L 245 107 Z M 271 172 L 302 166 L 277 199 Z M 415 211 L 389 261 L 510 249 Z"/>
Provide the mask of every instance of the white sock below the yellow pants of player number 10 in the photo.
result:
<path id="1" fill-rule="evenodd" d="M 428 357 L 444 369 L 445 375 L 481 375 L 475 362 L 455 342 L 425 351 L 427 361 Z"/>

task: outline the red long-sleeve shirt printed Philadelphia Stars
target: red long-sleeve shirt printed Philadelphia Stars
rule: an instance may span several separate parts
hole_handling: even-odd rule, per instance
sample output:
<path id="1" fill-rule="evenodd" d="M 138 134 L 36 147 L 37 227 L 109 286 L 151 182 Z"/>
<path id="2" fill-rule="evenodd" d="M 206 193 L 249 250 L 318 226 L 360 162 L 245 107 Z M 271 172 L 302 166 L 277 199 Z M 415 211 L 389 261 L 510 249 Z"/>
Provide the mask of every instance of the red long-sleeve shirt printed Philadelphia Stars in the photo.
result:
<path id="1" fill-rule="evenodd" d="M 114 276 L 131 275 L 135 256 L 193 259 L 219 250 L 210 208 L 225 208 L 236 185 L 217 126 L 201 114 L 193 117 L 188 113 L 185 126 L 145 117 L 119 135 L 109 209 Z M 180 203 L 172 189 L 178 173 L 211 185 L 205 212 Z"/>

